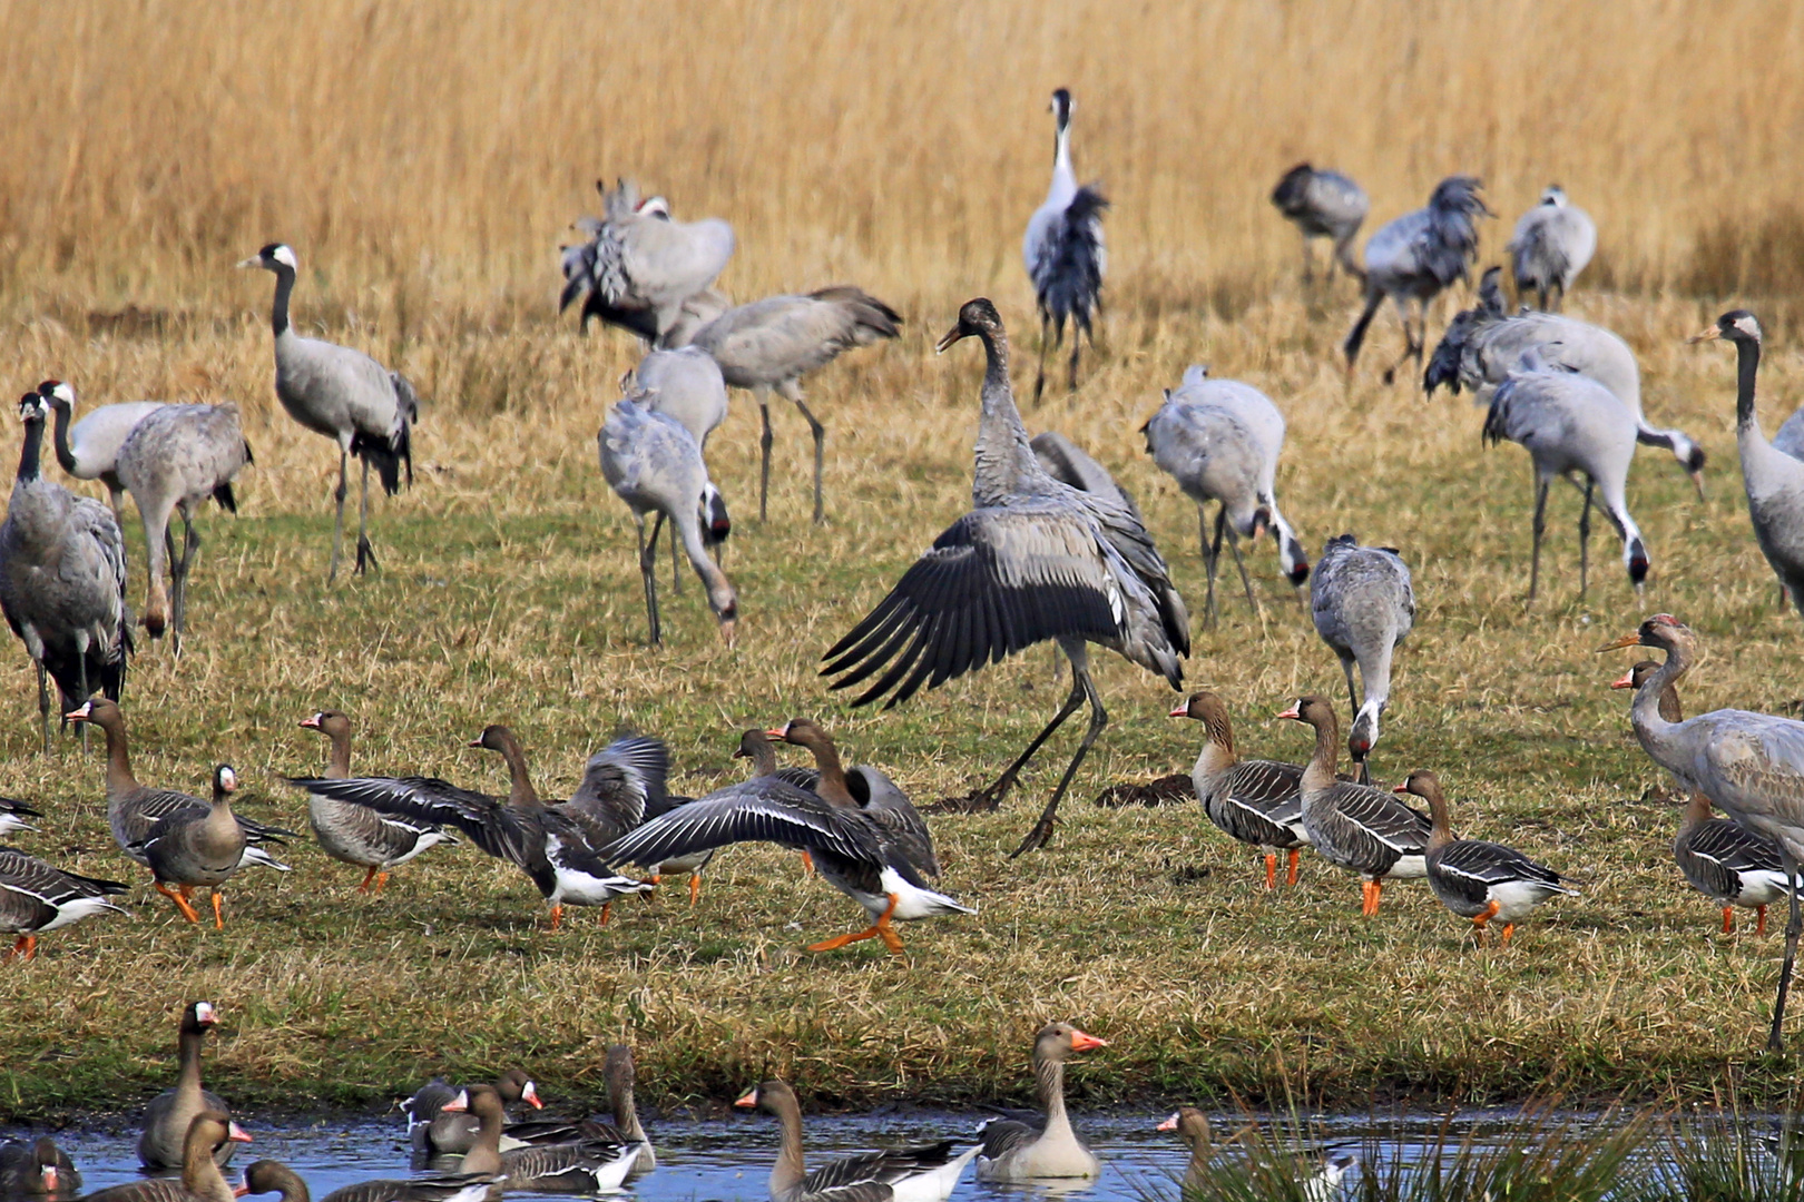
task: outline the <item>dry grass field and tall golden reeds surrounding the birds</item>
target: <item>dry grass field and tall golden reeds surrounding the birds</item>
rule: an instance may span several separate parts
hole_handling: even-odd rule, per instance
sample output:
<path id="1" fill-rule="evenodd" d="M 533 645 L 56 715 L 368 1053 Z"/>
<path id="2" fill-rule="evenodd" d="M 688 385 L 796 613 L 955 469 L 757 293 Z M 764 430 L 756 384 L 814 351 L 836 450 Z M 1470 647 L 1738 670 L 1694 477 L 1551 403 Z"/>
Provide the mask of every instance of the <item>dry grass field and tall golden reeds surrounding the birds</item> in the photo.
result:
<path id="1" fill-rule="evenodd" d="M 1665 609 L 1705 640 L 1689 708 L 1804 706 L 1799 618 L 1777 604 L 1741 499 L 1732 362 L 1683 344 L 1748 303 L 1768 328 L 1768 431 L 1799 398 L 1791 231 L 1804 222 L 1782 148 L 1804 97 L 1799 72 L 1737 63 L 1755 49 L 1797 63 L 1799 18 L 1777 4 L 1710 14 L 1723 23 L 1652 4 L 1111 11 L 1041 22 L 1039 5 L 916 5 L 877 22 L 776 4 L 606 16 L 327 4 L 294 29 L 274 5 L 0 9 L 4 52 L 32 54 L 29 70 L 13 63 L 31 87 L 0 101 L 16 387 L 54 375 L 92 404 L 233 398 L 256 447 L 240 515 L 202 523 L 188 654 L 148 647 L 133 669 L 139 777 L 200 789 L 229 760 L 245 813 L 299 825 L 305 807 L 271 773 L 319 762 L 296 721 L 332 705 L 357 721 L 357 768 L 491 789 L 500 762 L 464 750 L 491 721 L 525 739 L 545 795 L 570 789 L 619 724 L 664 737 L 675 786 L 698 793 L 736 779 L 740 728 L 794 714 L 826 721 L 918 802 L 989 782 L 1064 696 L 1050 652 L 888 714 L 844 710 L 815 665 L 969 505 L 978 351 L 934 359 L 931 344 L 985 292 L 1017 332 L 1017 362 L 1032 353 L 1019 229 L 1045 187 L 1043 97 L 1068 83 L 1081 173 L 1115 198 L 1109 310 L 1082 389 L 1028 423 L 1118 472 L 1200 616 L 1194 506 L 1135 429 L 1189 362 L 1272 395 L 1290 420 L 1279 494 L 1312 557 L 1353 530 L 1402 548 L 1416 573 L 1416 634 L 1375 771 L 1438 769 L 1465 833 L 1571 870 L 1582 899 L 1550 906 L 1508 952 L 1474 952 L 1422 887 L 1387 890 L 1369 923 L 1355 879 L 1319 861 L 1295 890 L 1252 888 L 1254 858 L 1194 807 L 1088 804 L 1118 780 L 1187 771 L 1200 737 L 1165 717 L 1160 681 L 1104 660 L 1113 723 L 1055 842 L 1003 858 L 1075 730 L 1003 813 L 936 822 L 943 885 L 981 912 L 904 930 L 906 964 L 873 944 L 799 953 L 862 915 L 774 849 L 723 854 L 695 910 L 667 896 L 619 906 L 606 928 L 579 912 L 548 933 L 525 878 L 471 847 L 429 852 L 375 901 L 352 892 L 355 870 L 298 845 L 292 874 L 231 883 L 224 933 L 188 926 L 144 881 L 132 921 L 58 932 L 0 971 L 0 1119 L 161 1088 L 193 997 L 220 1006 L 209 1085 L 238 1105 L 364 1105 L 429 1072 L 514 1060 L 547 1094 L 586 1096 L 622 1038 L 658 1103 L 725 1099 L 770 1070 L 819 1105 L 1021 1099 L 1048 1016 L 1113 1042 L 1073 1070 L 1084 1103 L 1782 1101 L 1791 1065 L 1757 1051 L 1779 939 L 1717 935 L 1716 910 L 1680 881 L 1676 809 L 1643 800 L 1661 780 L 1627 699 L 1606 688 L 1627 656 L 1591 652 Z M 1577 25 L 1550 36 L 1555 14 Z M 922 54 L 929 65 L 909 67 Z M 1548 178 L 1597 214 L 1604 254 L 1571 310 L 1629 339 L 1649 416 L 1712 460 L 1701 503 L 1667 456 L 1636 463 L 1629 499 L 1654 560 L 1642 604 L 1607 537 L 1577 600 L 1566 490 L 1542 600 L 1524 607 L 1526 454 L 1483 451 L 1463 398 L 1378 386 L 1371 364 L 1398 346 L 1389 319 L 1344 386 L 1355 297 L 1299 288 L 1295 243 L 1265 202 L 1301 155 L 1362 178 L 1376 220 L 1459 168 L 1486 177 L 1506 222 Z M 644 645 L 633 528 L 594 442 L 637 350 L 577 339 L 552 314 L 559 231 L 594 207 L 592 178 L 615 173 L 678 214 L 736 223 L 723 278 L 736 296 L 848 279 L 907 317 L 898 342 L 810 380 L 828 422 L 824 528 L 808 523 L 792 409 L 776 413 L 765 526 L 756 407 L 738 398 L 714 436 L 738 519 L 731 651 L 693 578 L 680 598 L 666 591 L 666 647 Z M 1485 261 L 1506 222 L 1486 229 Z M 301 256 L 296 323 L 402 368 L 428 398 L 419 483 L 375 505 L 382 569 L 336 587 L 323 582 L 336 456 L 271 395 L 269 278 L 229 270 L 271 238 Z M 135 555 L 135 523 L 128 535 Z M 1270 546 L 1252 566 L 1263 615 L 1225 589 L 1187 679 L 1229 699 L 1243 751 L 1302 757 L 1304 732 L 1268 715 L 1299 690 L 1339 696 L 1340 674 Z M 0 791 L 47 813 L 18 843 L 139 881 L 106 834 L 99 746 L 83 759 L 65 737 L 41 760 L 34 732 L 14 645 L 0 665 Z"/>

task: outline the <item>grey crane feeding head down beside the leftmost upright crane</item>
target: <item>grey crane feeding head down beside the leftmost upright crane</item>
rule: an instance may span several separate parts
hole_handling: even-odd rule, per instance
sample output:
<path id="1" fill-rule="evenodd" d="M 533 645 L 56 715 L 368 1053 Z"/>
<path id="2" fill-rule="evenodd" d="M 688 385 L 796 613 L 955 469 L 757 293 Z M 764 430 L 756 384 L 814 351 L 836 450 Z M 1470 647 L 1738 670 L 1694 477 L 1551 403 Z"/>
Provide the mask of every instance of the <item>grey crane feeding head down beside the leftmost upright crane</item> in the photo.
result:
<path id="1" fill-rule="evenodd" d="M 162 405 L 144 414 L 119 447 L 119 479 L 144 523 L 144 575 L 150 577 L 144 629 L 162 638 L 168 627 L 177 654 L 188 625 L 188 571 L 200 550 L 195 512 L 213 497 L 236 514 L 231 481 L 253 461 L 251 443 L 238 425 L 238 405 Z M 182 515 L 182 557 L 171 564 L 170 517 L 175 512 Z M 170 587 L 162 582 L 166 569 Z"/>

